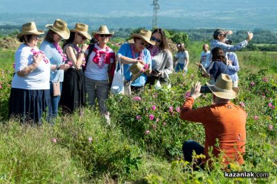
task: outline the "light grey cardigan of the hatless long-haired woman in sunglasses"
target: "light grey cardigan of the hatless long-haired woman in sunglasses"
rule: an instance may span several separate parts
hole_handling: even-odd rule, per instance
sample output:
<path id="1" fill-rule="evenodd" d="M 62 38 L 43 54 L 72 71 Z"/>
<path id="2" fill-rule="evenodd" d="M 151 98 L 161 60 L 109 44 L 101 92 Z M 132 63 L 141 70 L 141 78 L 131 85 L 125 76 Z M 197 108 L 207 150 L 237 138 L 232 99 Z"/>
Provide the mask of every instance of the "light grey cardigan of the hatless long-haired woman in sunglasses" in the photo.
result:
<path id="1" fill-rule="evenodd" d="M 154 69 L 161 71 L 161 77 L 168 78 L 173 71 L 173 58 L 170 50 L 161 50 L 152 58 L 152 71 Z"/>

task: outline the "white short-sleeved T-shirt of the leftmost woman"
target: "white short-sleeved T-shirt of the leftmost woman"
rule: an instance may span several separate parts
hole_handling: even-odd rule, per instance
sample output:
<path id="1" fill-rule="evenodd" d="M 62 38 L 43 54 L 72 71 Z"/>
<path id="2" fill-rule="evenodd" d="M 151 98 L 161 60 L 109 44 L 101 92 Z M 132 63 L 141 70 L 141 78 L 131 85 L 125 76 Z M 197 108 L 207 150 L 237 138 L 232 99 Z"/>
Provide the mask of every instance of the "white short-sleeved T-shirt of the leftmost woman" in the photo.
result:
<path id="1" fill-rule="evenodd" d="M 17 71 L 21 71 L 26 66 L 33 64 L 33 53 L 30 51 L 32 48 L 21 44 L 15 53 L 15 76 L 12 79 L 12 88 L 17 89 L 50 89 L 50 61 L 46 64 L 42 60 L 34 71 L 24 77 L 19 77 Z M 37 46 L 34 47 L 35 51 L 39 51 Z"/>

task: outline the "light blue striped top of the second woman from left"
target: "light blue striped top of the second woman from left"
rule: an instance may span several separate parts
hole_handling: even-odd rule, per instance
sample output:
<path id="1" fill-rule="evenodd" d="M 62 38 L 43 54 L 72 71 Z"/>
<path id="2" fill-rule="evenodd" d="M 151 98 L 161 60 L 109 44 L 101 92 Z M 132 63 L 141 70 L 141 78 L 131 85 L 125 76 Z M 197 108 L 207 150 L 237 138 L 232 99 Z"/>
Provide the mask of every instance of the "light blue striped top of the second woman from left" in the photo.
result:
<path id="1" fill-rule="evenodd" d="M 48 57 L 51 64 L 60 65 L 62 64 L 62 55 L 57 52 L 55 46 L 46 40 L 42 42 L 40 45 L 40 50 L 44 51 L 44 54 Z M 50 71 L 50 81 L 51 82 L 63 82 L 64 81 L 64 71 L 63 70 L 56 70 Z"/>

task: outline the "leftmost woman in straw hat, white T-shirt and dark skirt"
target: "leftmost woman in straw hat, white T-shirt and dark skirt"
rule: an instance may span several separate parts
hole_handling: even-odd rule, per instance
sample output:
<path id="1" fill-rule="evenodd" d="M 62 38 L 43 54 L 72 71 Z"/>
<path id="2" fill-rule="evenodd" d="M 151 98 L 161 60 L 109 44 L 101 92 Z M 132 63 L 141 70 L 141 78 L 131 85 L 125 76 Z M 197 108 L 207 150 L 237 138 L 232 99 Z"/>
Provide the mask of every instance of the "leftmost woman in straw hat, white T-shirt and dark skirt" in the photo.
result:
<path id="1" fill-rule="evenodd" d="M 15 53 L 15 75 L 10 91 L 9 117 L 20 118 L 21 123 L 42 125 L 42 113 L 51 113 L 49 91 L 50 62 L 37 48 L 39 35 L 35 22 L 22 25 L 17 35 L 21 44 Z"/>

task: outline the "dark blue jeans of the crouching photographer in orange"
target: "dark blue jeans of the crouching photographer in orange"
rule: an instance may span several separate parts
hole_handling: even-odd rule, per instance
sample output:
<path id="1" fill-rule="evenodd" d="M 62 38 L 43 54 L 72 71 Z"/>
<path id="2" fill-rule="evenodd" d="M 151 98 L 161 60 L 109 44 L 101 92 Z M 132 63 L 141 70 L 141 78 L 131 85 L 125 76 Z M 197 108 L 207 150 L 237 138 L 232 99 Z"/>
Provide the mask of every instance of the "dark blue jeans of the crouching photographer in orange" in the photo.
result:
<path id="1" fill-rule="evenodd" d="M 193 160 L 193 150 L 197 155 L 204 154 L 204 147 L 202 147 L 202 145 L 199 145 L 199 143 L 194 140 L 186 140 L 183 144 L 184 160 L 188 162 Z M 199 160 L 197 165 L 200 163 L 201 160 Z"/>

